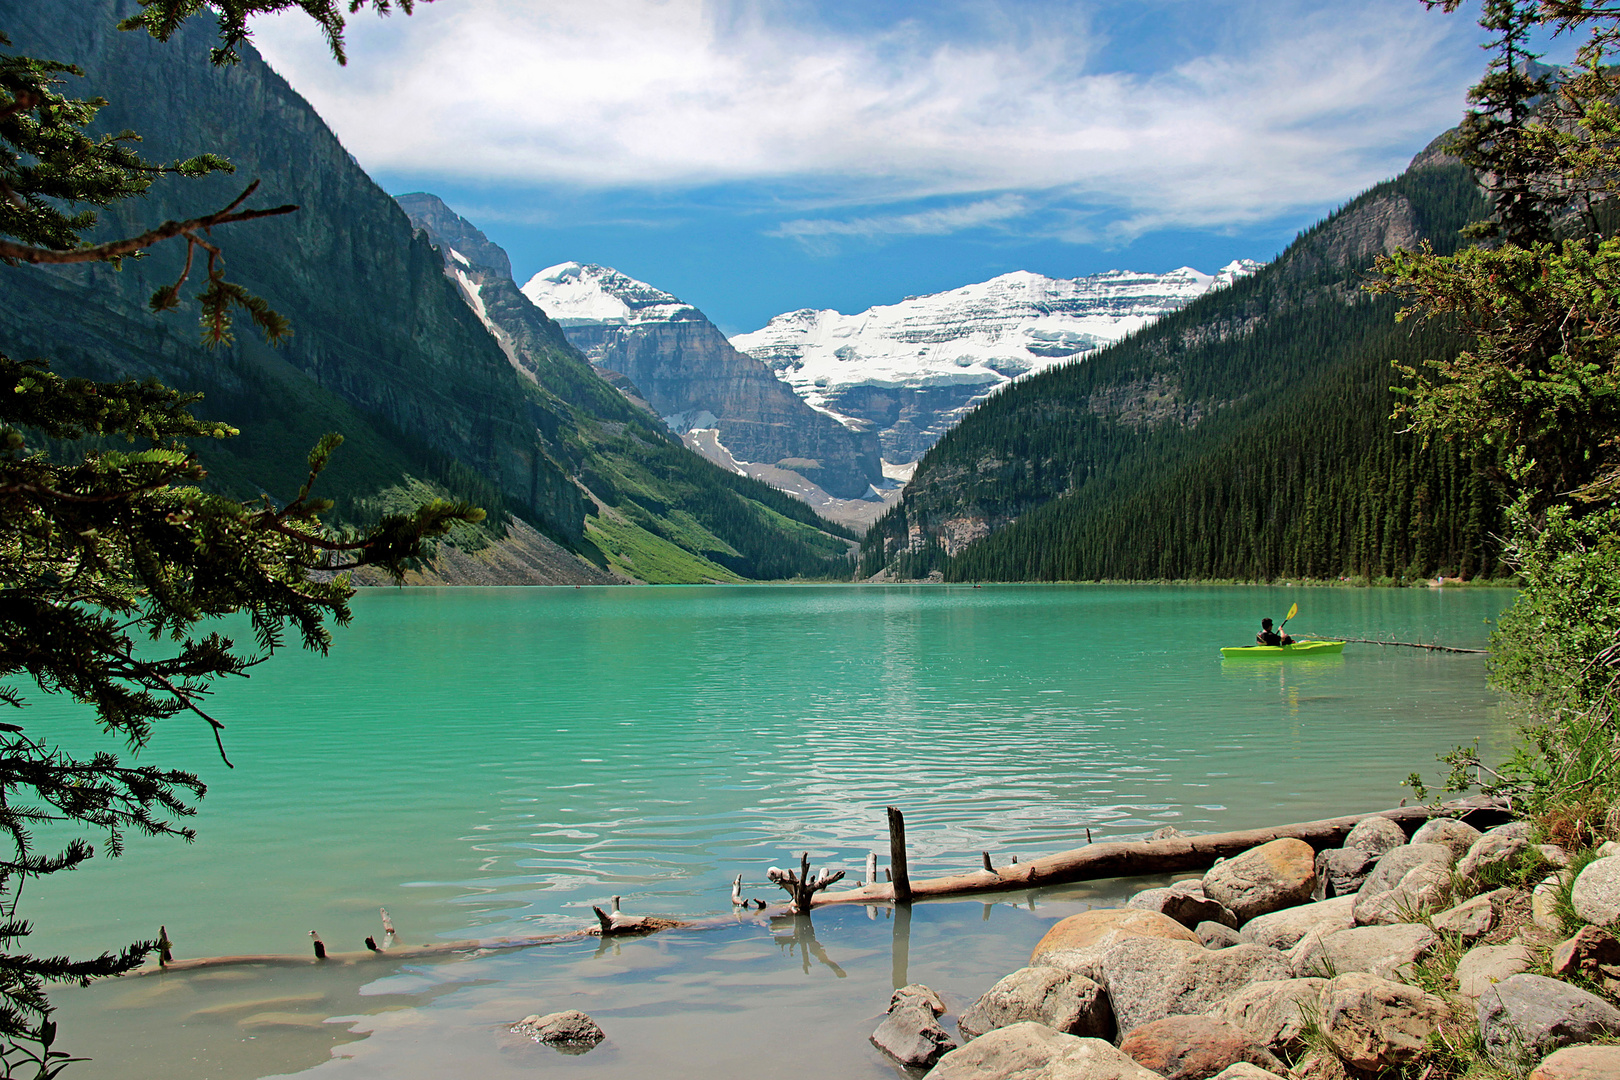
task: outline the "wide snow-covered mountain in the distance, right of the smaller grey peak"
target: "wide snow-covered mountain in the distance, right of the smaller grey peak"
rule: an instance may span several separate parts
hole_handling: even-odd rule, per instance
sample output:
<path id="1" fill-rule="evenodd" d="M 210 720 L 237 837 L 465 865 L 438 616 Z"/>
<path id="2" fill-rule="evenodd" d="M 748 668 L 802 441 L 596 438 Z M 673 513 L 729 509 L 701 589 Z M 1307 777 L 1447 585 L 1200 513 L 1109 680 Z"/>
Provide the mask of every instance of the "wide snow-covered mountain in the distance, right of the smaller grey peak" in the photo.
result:
<path id="1" fill-rule="evenodd" d="M 1051 279 L 1017 270 L 852 316 L 791 311 L 732 345 L 815 408 L 876 426 L 885 461 L 899 465 L 1008 382 L 1118 342 L 1257 269 L 1243 259 L 1218 274 L 1183 267 Z"/>

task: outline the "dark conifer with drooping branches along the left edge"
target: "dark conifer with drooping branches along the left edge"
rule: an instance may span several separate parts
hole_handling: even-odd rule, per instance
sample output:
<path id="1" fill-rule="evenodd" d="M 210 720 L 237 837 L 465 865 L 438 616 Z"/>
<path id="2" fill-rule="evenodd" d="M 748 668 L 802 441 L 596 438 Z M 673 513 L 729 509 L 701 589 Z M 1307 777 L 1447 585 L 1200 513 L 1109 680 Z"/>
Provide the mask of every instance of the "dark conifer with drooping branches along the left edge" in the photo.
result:
<path id="1" fill-rule="evenodd" d="M 141 0 L 126 29 L 168 37 L 199 0 Z M 410 0 L 395 0 L 410 11 Z M 235 58 L 246 18 L 301 8 L 321 23 L 342 62 L 343 18 L 337 0 L 225 0 L 219 10 L 217 63 Z M 364 0 L 350 3 L 350 11 Z M 389 0 L 371 6 L 389 11 Z M 0 37 L 0 47 L 10 42 Z M 292 327 L 258 296 L 230 282 L 225 236 L 248 222 L 296 207 L 249 207 L 256 185 L 225 207 L 164 222 L 112 241 L 89 243 L 97 209 L 144 193 L 154 181 L 228 172 L 201 154 L 147 162 L 133 131 L 91 134 L 104 100 L 65 92 L 78 68 L 49 58 L 0 53 L 0 259 L 19 264 L 113 262 L 141 257 L 159 243 L 185 243 L 186 269 L 152 298 L 154 313 L 181 304 L 194 274 L 202 338 L 230 340 L 245 314 L 275 342 Z M 228 227 L 228 228 L 227 228 Z M 201 262 L 201 267 L 196 264 Z M 156 317 L 156 316 L 154 316 Z M 156 947 L 138 941 L 117 952 L 71 960 L 24 950 L 31 923 L 19 913 L 28 878 L 70 871 L 96 853 L 76 837 L 39 850 L 34 832 L 70 823 L 99 834 L 117 855 L 131 832 L 191 839 L 183 824 L 204 793 L 191 772 L 130 764 L 113 750 L 79 756 L 29 724 L 32 695 L 65 695 L 102 732 L 141 750 L 173 719 L 206 724 L 230 764 L 224 722 L 204 706 L 215 680 L 246 675 L 292 633 L 324 653 L 330 625 L 350 619 L 347 570 L 374 565 L 395 576 L 428 538 L 457 521 L 478 521 L 467 504 L 429 502 L 356 531 L 322 521 L 330 504 L 316 483 L 342 442 L 324 437 L 309 453 L 305 484 L 285 500 L 243 504 L 198 487 L 206 476 L 193 445 L 237 434 L 198 419 L 199 395 L 157 384 L 63 377 L 44 359 L 0 356 L 0 1069 L 53 1077 L 71 1059 L 55 1049 L 49 983 L 89 983 L 128 972 Z M 246 643 L 204 627 L 245 617 Z M 152 928 L 154 931 L 157 928 Z"/>

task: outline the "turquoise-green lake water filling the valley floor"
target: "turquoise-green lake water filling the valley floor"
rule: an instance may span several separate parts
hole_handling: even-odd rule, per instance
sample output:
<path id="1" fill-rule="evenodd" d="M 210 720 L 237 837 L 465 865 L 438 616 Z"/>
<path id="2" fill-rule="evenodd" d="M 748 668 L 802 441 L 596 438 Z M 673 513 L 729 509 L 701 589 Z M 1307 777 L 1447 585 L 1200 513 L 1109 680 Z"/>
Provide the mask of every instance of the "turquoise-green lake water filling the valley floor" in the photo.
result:
<path id="1" fill-rule="evenodd" d="M 454 960 L 219 968 L 62 989 L 73 1077 L 886 1077 L 867 1043 L 896 978 L 962 1007 L 1095 882 L 996 904 L 732 918 L 808 850 L 859 878 L 906 810 L 912 876 L 1095 839 L 1395 805 L 1434 755 L 1508 732 L 1477 656 L 1346 646 L 1223 662 L 1290 630 L 1482 646 L 1500 589 L 737 586 L 387 589 L 326 659 L 222 687 L 225 769 L 173 721 L 143 755 L 211 785 L 194 845 L 131 840 L 29 882 L 39 952 L 168 928 L 177 955 L 535 934 L 627 913 L 698 931 Z M 71 709 L 36 706 L 66 724 Z M 83 729 L 83 722 L 78 725 Z M 79 743 L 79 737 L 71 742 Z M 83 743 L 79 743 L 83 745 Z M 886 861 L 886 857 L 885 857 Z M 902 913 L 904 915 L 904 913 Z M 582 1007 L 609 1041 L 510 1036 Z M 954 1010 L 954 1009 L 953 1009 Z"/>

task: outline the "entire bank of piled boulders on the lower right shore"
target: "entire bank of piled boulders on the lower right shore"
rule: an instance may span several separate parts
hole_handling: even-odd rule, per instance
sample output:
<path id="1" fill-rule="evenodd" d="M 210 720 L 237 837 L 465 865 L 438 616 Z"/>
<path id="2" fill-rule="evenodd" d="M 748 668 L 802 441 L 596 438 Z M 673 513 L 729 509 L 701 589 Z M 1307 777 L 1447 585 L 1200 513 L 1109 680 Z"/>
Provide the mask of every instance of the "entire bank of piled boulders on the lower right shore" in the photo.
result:
<path id="1" fill-rule="evenodd" d="M 1448 818 L 1272 840 L 1064 918 L 954 1023 L 906 986 L 872 1040 L 930 1080 L 1614 1080 L 1620 845 L 1594 855 Z"/>

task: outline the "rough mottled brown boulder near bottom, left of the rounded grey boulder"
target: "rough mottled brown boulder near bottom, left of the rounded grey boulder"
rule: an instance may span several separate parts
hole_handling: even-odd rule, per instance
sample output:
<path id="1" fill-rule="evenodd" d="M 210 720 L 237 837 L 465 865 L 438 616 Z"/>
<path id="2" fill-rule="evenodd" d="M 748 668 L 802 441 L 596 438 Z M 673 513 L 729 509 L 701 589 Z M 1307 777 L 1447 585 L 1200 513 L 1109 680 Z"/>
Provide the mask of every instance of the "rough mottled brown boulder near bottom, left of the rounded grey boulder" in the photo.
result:
<path id="1" fill-rule="evenodd" d="M 1367 1072 L 1416 1057 L 1447 1015 L 1445 1002 L 1434 994 L 1366 972 L 1330 980 L 1319 1010 L 1333 1049 Z"/>

